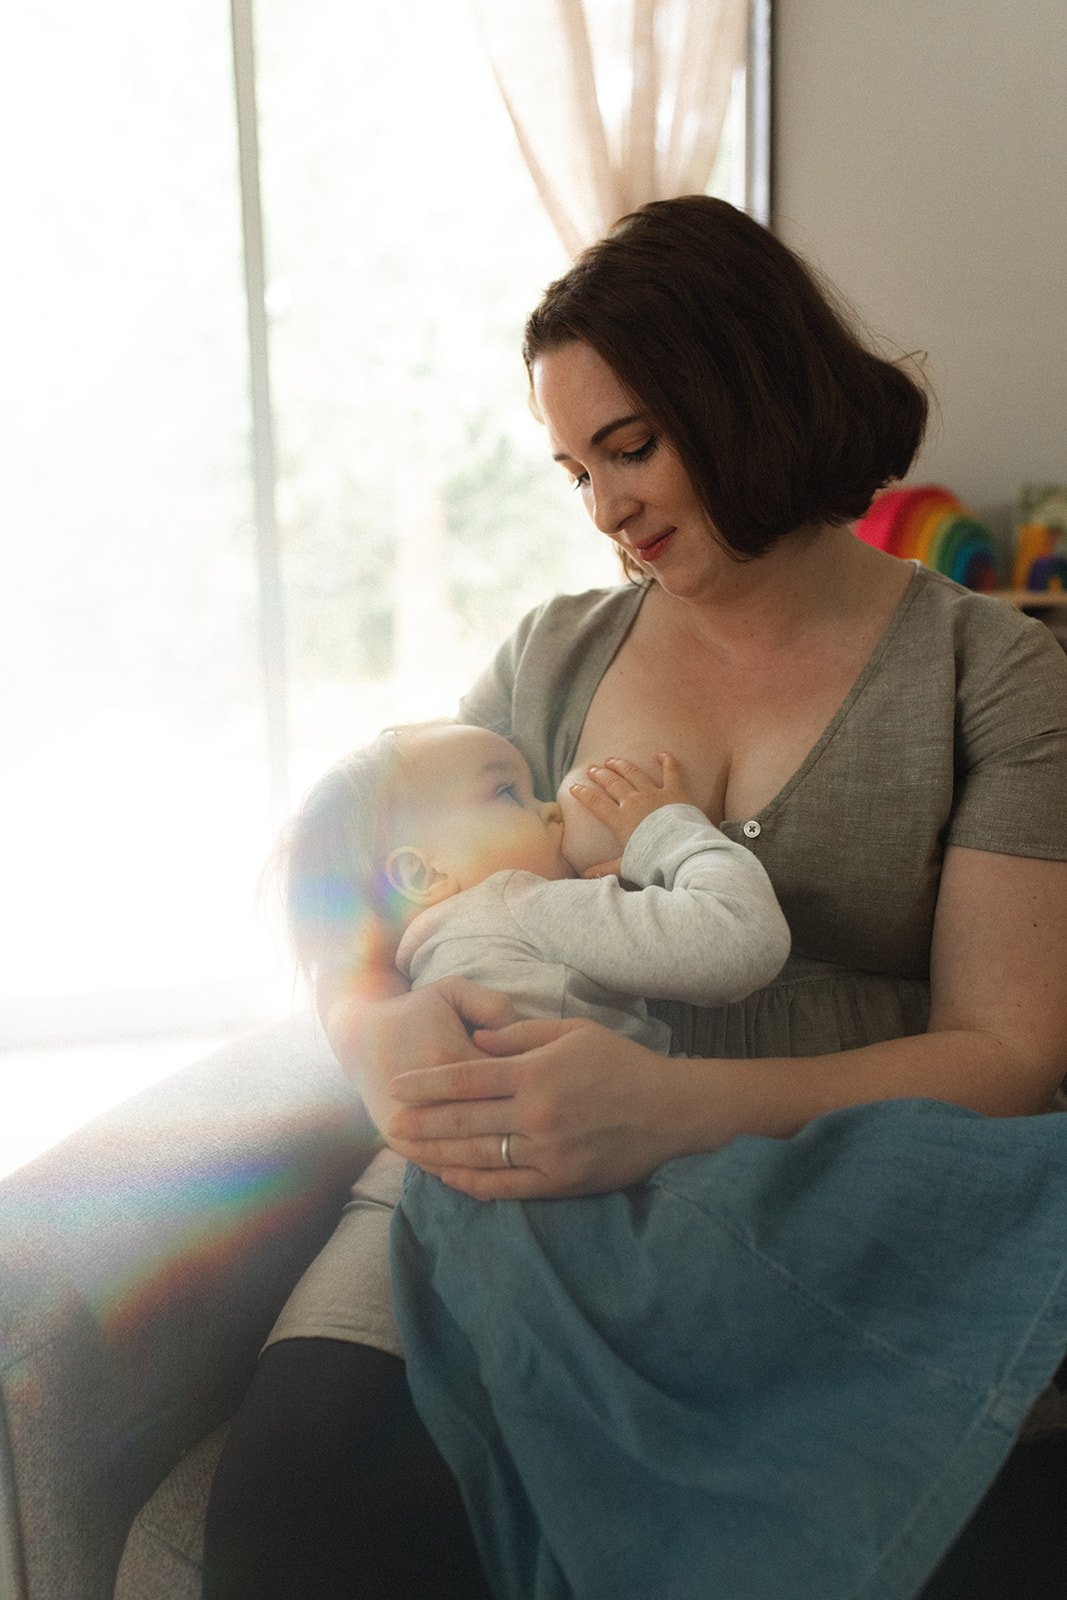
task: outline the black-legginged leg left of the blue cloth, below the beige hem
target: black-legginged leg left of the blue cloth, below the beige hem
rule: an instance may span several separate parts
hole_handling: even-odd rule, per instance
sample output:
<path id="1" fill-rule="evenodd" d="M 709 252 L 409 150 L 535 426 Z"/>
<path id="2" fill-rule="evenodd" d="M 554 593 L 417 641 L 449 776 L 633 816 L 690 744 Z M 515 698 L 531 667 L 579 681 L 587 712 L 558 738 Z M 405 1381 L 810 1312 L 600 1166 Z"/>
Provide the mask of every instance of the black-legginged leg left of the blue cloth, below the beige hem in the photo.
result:
<path id="1" fill-rule="evenodd" d="M 203 1600 L 490 1600 L 456 1480 L 395 1355 L 285 1339 L 211 1488 Z"/>

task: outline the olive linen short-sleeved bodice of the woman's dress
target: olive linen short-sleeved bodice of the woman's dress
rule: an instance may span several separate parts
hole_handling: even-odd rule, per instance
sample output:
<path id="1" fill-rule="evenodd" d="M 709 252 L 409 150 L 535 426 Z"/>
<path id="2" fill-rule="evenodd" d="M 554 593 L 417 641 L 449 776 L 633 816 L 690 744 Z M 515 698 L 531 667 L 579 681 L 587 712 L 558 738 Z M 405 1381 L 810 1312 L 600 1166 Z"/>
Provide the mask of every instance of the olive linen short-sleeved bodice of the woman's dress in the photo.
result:
<path id="1" fill-rule="evenodd" d="M 537 794 L 573 766 L 646 592 L 550 600 L 462 702 L 462 722 L 520 747 Z M 917 566 L 822 738 L 723 834 L 766 867 L 793 955 L 739 1005 L 657 1008 L 675 1053 L 814 1056 L 921 1032 L 945 845 L 1067 858 L 1067 658 L 1003 600 Z"/>

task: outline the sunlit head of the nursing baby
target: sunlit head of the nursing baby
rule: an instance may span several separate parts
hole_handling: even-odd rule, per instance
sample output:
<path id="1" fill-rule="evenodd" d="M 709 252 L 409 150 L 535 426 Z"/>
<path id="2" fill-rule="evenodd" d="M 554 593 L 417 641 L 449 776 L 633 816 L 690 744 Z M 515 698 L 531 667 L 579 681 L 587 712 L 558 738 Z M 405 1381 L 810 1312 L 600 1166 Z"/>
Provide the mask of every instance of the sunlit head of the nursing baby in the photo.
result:
<path id="1" fill-rule="evenodd" d="M 290 934 L 306 971 L 362 962 L 419 910 L 494 872 L 574 875 L 563 818 L 486 728 L 394 728 L 314 786 L 283 850 Z"/>

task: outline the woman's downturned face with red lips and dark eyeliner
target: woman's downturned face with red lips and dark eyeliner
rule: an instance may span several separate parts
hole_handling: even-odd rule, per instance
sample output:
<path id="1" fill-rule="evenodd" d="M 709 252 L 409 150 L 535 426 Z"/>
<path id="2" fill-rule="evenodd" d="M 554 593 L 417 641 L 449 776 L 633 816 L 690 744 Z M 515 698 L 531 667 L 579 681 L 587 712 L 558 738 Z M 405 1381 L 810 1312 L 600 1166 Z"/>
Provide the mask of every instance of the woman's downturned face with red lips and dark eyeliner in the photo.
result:
<path id="1" fill-rule="evenodd" d="M 585 510 L 662 589 L 694 597 L 721 565 L 721 544 L 669 440 L 608 363 L 579 339 L 533 365 L 533 394 L 552 456 Z"/>

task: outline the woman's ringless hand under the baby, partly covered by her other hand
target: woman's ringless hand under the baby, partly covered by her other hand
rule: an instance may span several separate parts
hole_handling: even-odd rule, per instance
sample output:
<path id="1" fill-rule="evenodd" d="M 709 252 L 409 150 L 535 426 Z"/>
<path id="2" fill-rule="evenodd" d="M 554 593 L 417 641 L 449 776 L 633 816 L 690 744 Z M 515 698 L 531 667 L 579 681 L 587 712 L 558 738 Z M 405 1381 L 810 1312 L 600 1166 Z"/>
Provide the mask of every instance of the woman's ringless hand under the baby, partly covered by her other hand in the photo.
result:
<path id="1" fill-rule="evenodd" d="M 442 1062 L 482 1061 L 472 1043 L 477 1027 L 506 1027 L 515 1021 L 507 995 L 466 978 L 443 978 L 424 989 L 387 998 L 341 994 L 323 1008 L 323 1027 L 346 1077 L 352 1078 L 374 1126 L 386 1134 L 400 1109 L 389 1091 L 398 1072 L 438 1067 Z M 499 1141 L 498 1141 L 499 1149 Z"/>

